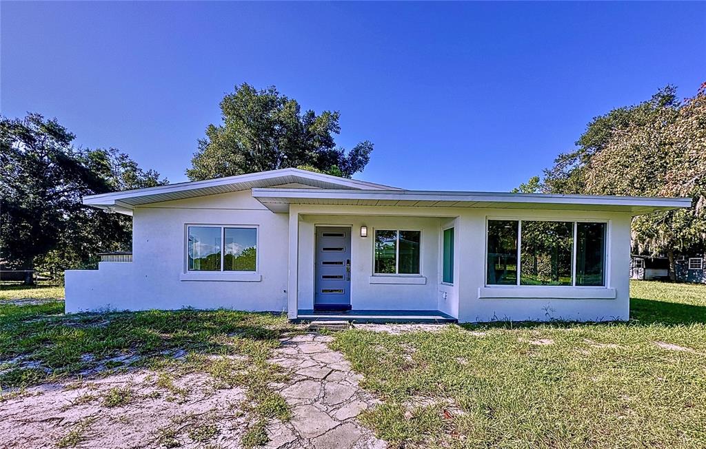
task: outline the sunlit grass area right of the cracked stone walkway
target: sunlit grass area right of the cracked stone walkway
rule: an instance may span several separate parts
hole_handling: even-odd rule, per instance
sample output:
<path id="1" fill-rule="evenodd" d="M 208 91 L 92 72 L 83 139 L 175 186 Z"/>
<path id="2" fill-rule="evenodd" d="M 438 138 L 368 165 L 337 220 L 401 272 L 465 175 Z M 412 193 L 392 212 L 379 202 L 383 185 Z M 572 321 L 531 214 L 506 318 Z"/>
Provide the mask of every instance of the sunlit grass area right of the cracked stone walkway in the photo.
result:
<path id="1" fill-rule="evenodd" d="M 629 324 L 352 329 L 333 347 L 383 400 L 360 419 L 393 447 L 706 447 L 706 286 L 632 285 Z"/>

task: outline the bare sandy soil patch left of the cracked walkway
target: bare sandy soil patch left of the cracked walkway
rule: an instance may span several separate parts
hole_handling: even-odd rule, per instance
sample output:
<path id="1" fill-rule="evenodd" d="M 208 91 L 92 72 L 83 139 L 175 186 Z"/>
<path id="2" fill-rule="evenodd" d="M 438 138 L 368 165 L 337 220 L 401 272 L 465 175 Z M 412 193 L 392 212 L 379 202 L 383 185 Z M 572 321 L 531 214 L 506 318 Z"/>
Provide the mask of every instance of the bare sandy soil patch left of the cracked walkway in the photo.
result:
<path id="1" fill-rule="evenodd" d="M 139 370 L 28 388 L 0 402 L 0 447 L 240 447 L 240 388 L 216 389 L 208 374 L 164 376 Z"/>

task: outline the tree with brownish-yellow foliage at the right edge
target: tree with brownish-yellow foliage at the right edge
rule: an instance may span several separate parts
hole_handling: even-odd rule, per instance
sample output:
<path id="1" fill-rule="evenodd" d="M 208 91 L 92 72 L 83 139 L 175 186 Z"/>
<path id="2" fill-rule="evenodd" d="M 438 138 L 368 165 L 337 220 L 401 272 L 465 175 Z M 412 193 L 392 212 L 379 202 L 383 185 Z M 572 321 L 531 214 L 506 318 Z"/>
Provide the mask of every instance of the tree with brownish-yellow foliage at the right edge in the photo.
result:
<path id="1" fill-rule="evenodd" d="M 630 123 L 596 154 L 586 171 L 590 194 L 692 197 L 693 207 L 635 217 L 638 252 L 666 254 L 675 277 L 675 253 L 703 252 L 706 243 L 706 83 L 647 123 Z"/>

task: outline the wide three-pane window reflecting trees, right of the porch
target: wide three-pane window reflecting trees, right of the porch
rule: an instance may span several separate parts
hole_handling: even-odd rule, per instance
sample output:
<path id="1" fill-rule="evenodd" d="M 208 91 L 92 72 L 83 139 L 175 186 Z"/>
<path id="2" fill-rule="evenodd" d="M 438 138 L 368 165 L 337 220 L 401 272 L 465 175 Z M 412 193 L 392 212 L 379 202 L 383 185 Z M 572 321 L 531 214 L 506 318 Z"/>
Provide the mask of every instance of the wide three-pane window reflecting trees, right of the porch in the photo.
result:
<path id="1" fill-rule="evenodd" d="M 603 286 L 605 247 L 606 223 L 489 220 L 486 284 Z"/>

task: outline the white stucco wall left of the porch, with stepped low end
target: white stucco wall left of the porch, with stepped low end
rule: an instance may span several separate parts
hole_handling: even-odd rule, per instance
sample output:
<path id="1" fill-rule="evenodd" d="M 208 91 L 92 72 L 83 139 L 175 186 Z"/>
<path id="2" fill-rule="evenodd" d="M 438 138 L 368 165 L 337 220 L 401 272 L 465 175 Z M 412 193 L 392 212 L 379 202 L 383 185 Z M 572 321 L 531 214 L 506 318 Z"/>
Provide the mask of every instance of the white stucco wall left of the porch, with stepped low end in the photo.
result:
<path id="1" fill-rule="evenodd" d="M 66 311 L 225 307 L 287 309 L 288 216 L 273 214 L 249 191 L 138 207 L 133 262 L 66 271 Z M 258 226 L 258 275 L 186 274 L 186 224 Z M 229 279 L 229 281 L 187 279 Z"/>

